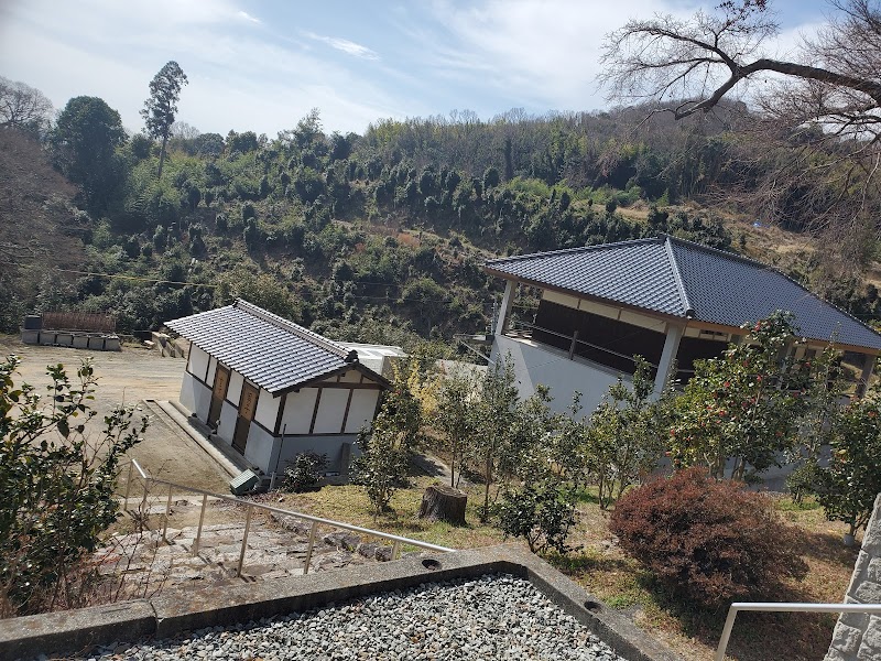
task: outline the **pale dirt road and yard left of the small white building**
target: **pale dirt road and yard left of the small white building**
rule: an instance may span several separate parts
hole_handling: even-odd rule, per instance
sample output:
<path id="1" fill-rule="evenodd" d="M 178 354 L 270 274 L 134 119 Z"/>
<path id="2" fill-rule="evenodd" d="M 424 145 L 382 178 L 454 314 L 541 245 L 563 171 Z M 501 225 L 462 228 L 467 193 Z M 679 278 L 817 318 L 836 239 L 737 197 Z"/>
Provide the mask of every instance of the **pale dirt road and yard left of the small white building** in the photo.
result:
<path id="1" fill-rule="evenodd" d="M 229 478 L 205 451 L 176 425 L 152 415 L 143 405 L 143 400 L 148 399 L 177 400 L 186 367 L 184 359 L 162 358 L 155 351 L 131 346 L 123 347 L 122 351 L 33 346 L 9 335 L 0 335 L 0 354 L 21 358 L 20 378 L 15 381 L 31 383 L 37 392 L 45 392 L 50 383 L 47 365 L 63 364 L 73 377 L 80 361 L 91 358 L 98 377 L 94 402 L 99 413 L 96 420 L 100 421 L 119 403 L 141 404 L 143 413 L 151 418 L 144 441 L 130 452 L 141 466 L 154 477 L 220 494 L 229 491 Z M 99 430 L 93 426 L 90 433 L 96 434 Z M 124 474 L 121 479 L 124 484 Z"/>

